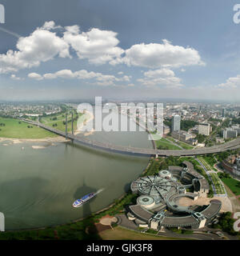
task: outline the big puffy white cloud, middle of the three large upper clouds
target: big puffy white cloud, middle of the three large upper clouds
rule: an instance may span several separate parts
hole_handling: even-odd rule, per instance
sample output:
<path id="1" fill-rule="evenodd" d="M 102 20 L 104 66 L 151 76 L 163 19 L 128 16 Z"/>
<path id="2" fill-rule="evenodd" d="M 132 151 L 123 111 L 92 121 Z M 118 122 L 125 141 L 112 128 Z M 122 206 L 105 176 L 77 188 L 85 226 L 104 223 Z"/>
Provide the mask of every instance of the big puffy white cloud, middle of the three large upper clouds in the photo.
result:
<path id="1" fill-rule="evenodd" d="M 124 53 L 118 47 L 117 33 L 110 30 L 93 28 L 88 32 L 80 33 L 78 26 L 67 26 L 64 40 L 77 52 L 78 58 L 87 58 L 90 63 L 104 64 Z"/>

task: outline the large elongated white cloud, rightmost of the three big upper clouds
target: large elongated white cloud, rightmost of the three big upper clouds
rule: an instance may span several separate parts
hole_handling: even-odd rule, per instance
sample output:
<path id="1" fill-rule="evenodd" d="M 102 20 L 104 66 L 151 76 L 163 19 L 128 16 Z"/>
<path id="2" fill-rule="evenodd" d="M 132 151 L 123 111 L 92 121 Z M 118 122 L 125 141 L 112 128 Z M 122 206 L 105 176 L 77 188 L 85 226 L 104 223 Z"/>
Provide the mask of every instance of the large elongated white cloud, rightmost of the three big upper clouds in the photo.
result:
<path id="1" fill-rule="evenodd" d="M 148 68 L 180 67 L 204 65 L 197 50 L 183 46 L 173 46 L 166 39 L 160 43 L 136 44 L 125 51 L 123 58 L 110 62 L 115 65 L 125 63 L 128 66 Z"/>

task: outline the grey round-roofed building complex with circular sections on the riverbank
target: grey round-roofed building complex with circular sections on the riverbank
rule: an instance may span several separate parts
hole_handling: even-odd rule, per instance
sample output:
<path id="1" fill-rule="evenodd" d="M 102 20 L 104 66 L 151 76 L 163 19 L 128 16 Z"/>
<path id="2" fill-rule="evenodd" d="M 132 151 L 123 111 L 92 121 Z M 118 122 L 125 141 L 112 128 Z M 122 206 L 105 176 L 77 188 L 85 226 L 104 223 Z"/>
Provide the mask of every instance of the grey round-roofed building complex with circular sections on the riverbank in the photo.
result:
<path id="1" fill-rule="evenodd" d="M 209 193 L 206 179 L 190 162 L 184 164 L 186 167 L 170 166 L 158 175 L 141 177 L 131 183 L 130 189 L 139 196 L 136 204 L 127 208 L 130 221 L 139 227 L 161 230 L 162 227 L 201 229 L 214 220 L 222 207 L 218 200 L 211 200 L 205 206 L 180 205 L 182 198 L 191 198 L 194 202 Z"/>

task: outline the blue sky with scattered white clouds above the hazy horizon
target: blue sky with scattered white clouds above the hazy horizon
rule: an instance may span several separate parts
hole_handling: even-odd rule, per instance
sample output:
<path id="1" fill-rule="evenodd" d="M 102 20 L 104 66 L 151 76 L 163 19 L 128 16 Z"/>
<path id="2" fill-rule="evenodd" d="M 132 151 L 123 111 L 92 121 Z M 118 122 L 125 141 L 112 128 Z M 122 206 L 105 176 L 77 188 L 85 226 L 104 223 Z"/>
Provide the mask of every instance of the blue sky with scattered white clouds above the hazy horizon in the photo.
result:
<path id="1" fill-rule="evenodd" d="M 237 3 L 0 0 L 0 100 L 240 102 Z"/>

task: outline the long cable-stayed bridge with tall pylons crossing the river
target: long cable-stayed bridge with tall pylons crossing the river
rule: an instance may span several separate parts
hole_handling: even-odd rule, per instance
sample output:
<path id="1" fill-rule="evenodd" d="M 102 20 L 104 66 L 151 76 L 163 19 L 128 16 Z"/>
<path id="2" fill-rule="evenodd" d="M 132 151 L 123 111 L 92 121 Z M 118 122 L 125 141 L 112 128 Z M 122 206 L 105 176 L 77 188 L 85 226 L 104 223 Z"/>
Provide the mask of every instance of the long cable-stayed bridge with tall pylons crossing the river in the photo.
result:
<path id="1" fill-rule="evenodd" d="M 63 132 L 61 130 L 56 130 L 50 126 L 46 126 L 42 124 L 41 122 L 34 122 L 27 119 L 21 119 L 23 122 L 27 122 L 34 126 L 39 126 L 42 129 L 48 130 L 54 134 L 58 134 L 59 136 L 65 137 L 66 139 L 70 139 L 72 142 L 84 145 L 84 146 L 90 146 L 97 149 L 112 151 L 116 153 L 121 154 L 135 154 L 140 156 L 194 156 L 194 155 L 203 155 L 203 154 L 214 154 L 214 153 L 220 153 L 224 152 L 226 150 L 236 150 L 240 148 L 240 138 L 236 138 L 231 142 L 226 142 L 224 144 L 218 145 L 218 146 L 210 146 L 206 148 L 200 148 L 196 150 L 156 150 L 156 149 L 144 149 L 144 148 L 138 148 L 138 147 L 132 147 L 132 146 L 118 146 L 113 145 L 106 142 L 95 142 L 91 141 L 87 138 L 80 138 L 76 135 L 74 135 L 74 127 L 72 122 L 72 132 L 71 134 L 67 132 L 67 118 L 66 118 L 66 131 Z M 72 118 L 73 120 L 73 118 Z"/>

